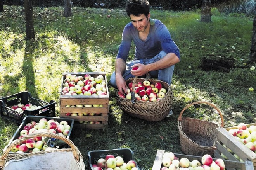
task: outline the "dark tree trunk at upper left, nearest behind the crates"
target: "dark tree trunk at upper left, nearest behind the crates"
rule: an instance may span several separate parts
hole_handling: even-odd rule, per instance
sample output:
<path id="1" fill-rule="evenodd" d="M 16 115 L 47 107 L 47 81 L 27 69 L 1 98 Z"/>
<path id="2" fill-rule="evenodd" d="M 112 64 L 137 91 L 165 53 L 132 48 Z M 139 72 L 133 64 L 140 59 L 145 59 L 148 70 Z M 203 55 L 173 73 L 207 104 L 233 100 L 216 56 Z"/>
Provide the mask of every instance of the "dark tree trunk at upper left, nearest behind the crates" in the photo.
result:
<path id="1" fill-rule="evenodd" d="M 24 8 L 26 21 L 26 40 L 32 40 L 35 39 L 32 0 L 24 0 Z"/>

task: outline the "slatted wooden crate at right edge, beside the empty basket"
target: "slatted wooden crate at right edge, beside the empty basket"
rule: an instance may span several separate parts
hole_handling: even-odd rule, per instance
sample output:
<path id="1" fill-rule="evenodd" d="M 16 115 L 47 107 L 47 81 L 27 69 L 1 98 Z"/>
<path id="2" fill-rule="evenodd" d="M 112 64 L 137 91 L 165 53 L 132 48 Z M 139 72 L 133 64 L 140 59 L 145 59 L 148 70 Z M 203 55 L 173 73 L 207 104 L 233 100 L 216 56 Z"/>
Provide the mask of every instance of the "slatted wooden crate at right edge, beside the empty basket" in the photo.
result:
<path id="1" fill-rule="evenodd" d="M 246 124 L 247 127 L 251 125 L 256 126 L 256 123 Z M 217 141 L 215 142 L 217 150 L 214 152 L 214 156 L 216 158 L 223 158 L 221 156 L 221 153 L 223 153 L 228 158 L 228 160 L 237 161 L 237 158 L 235 158 L 233 155 L 235 153 L 242 160 L 251 161 L 253 163 L 254 169 L 256 169 L 256 153 L 251 151 L 241 142 L 237 141 L 234 136 L 228 132 L 230 129 L 237 129 L 237 126 L 229 128 L 217 128 Z M 232 150 L 234 153 L 230 153 L 226 148 L 223 147 L 223 144 L 225 144 L 227 148 Z"/>

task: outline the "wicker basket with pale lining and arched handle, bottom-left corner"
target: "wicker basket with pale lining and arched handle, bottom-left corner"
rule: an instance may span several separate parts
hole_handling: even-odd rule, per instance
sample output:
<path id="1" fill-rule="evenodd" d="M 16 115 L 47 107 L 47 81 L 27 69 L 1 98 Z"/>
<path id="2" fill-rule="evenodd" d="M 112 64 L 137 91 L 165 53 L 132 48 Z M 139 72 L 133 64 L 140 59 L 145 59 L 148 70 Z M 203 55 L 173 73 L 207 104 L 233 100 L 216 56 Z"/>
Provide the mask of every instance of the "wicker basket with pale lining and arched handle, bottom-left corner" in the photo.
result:
<path id="1" fill-rule="evenodd" d="M 66 149 L 55 149 L 51 151 L 38 151 L 38 152 L 31 152 L 31 153 L 9 153 L 12 148 L 21 142 L 25 141 L 26 139 L 31 139 L 36 136 L 47 136 L 52 137 L 56 139 L 61 139 L 62 141 L 66 142 L 71 148 Z M 59 157 L 60 161 L 56 162 L 54 159 L 50 159 L 50 156 L 57 157 L 57 155 L 62 155 L 63 157 Z M 41 159 L 40 156 L 49 156 L 49 158 Z M 64 156 L 67 158 L 65 159 Z M 34 160 L 33 160 L 34 159 Z M 69 161 L 71 160 L 71 161 Z M 29 163 L 27 163 L 29 161 Z M 33 165 L 33 163 L 36 163 L 36 165 Z M 48 170 L 50 168 L 53 168 L 52 165 L 57 166 L 55 167 L 55 170 L 85 170 L 85 164 L 83 162 L 83 156 L 81 155 L 80 151 L 76 146 L 74 146 L 74 143 L 65 138 L 64 136 L 60 136 L 58 134 L 54 133 L 32 133 L 28 134 L 20 139 L 17 139 L 17 141 L 14 141 L 4 152 L 3 155 L 0 157 L 0 170 L 11 169 L 16 170 L 16 168 L 13 168 L 17 165 L 12 165 L 12 163 L 17 164 L 19 167 L 17 167 L 17 170 L 22 169 L 22 166 L 26 167 L 27 170 Z M 67 165 L 68 164 L 68 165 Z M 8 166 L 10 166 L 8 167 Z M 62 167 L 62 168 L 61 168 Z"/>

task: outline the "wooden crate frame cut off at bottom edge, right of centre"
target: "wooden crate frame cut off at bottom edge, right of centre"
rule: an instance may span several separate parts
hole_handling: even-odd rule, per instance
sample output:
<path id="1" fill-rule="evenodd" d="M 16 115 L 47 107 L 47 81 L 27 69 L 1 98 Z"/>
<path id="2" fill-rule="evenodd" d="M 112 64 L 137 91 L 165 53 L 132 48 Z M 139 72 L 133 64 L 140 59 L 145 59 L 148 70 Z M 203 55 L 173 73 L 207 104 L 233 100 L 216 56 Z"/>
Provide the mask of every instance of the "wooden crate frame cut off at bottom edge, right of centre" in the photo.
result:
<path id="1" fill-rule="evenodd" d="M 157 150 L 156 158 L 155 158 L 152 170 L 161 170 L 164 152 L 165 152 L 164 150 Z M 202 160 L 201 156 L 183 155 L 178 153 L 174 153 L 174 155 L 179 159 L 188 158 L 190 161 L 199 160 L 199 162 L 201 162 Z M 213 160 L 216 160 L 216 159 L 213 158 Z M 251 161 L 245 161 L 243 163 L 239 161 L 224 160 L 224 163 L 225 163 L 225 169 L 237 168 L 240 170 L 253 170 L 253 163 Z"/>

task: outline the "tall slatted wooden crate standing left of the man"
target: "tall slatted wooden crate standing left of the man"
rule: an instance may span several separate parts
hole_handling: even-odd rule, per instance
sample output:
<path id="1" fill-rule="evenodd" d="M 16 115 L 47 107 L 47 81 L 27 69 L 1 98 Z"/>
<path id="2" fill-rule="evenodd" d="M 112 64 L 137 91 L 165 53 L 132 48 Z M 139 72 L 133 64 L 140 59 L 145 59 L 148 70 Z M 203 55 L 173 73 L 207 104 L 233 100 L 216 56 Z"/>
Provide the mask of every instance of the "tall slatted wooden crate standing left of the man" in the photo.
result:
<path id="1" fill-rule="evenodd" d="M 104 129 L 108 122 L 108 112 L 109 112 L 109 90 L 107 88 L 107 78 L 104 72 L 66 72 L 62 74 L 62 82 L 67 74 L 74 74 L 76 76 L 84 76 L 85 74 L 90 74 L 94 78 L 98 75 L 103 75 L 106 82 L 107 95 L 61 95 L 60 96 L 60 116 L 65 118 L 74 119 L 74 127 L 81 129 Z M 61 83 L 61 90 L 62 90 Z M 93 105 L 100 104 L 102 107 L 66 107 L 66 105 Z M 101 113 L 97 116 L 67 116 L 66 113 Z M 100 122 L 99 124 L 87 124 L 79 123 L 85 121 Z"/>

